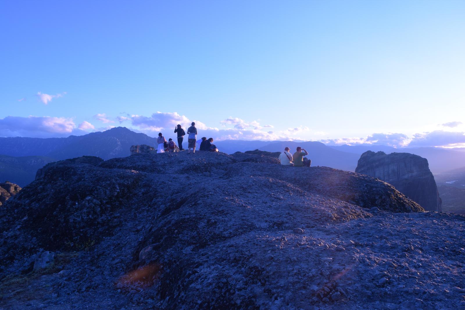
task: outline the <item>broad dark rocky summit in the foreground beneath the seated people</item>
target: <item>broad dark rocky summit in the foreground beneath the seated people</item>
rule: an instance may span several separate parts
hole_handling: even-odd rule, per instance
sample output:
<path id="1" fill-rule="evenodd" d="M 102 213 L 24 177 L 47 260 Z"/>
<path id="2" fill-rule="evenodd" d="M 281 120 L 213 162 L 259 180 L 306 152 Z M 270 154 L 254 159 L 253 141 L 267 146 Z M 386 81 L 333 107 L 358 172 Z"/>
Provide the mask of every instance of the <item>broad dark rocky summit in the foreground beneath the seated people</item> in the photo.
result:
<path id="1" fill-rule="evenodd" d="M 49 164 L 0 233 L 0 309 L 465 307 L 464 216 L 263 154 Z"/>

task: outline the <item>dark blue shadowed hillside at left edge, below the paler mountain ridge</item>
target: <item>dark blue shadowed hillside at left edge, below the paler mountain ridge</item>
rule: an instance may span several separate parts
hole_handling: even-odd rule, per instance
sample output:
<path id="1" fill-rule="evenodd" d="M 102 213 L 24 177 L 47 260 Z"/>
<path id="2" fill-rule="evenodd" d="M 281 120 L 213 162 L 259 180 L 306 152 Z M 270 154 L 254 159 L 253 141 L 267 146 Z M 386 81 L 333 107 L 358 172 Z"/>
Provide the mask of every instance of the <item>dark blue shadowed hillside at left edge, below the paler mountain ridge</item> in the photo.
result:
<path id="1" fill-rule="evenodd" d="M 0 182 L 10 181 L 24 187 L 35 178 L 35 173 L 56 159 L 45 156 L 12 157 L 0 155 Z"/>

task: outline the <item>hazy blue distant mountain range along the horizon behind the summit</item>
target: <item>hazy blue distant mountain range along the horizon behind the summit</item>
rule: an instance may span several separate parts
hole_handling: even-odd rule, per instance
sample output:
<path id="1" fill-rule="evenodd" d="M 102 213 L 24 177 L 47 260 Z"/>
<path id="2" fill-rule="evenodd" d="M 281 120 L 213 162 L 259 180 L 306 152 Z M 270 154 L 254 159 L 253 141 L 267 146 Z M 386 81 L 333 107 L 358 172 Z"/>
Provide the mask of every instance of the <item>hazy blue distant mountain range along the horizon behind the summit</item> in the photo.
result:
<path id="1" fill-rule="evenodd" d="M 201 133 L 200 135 L 201 136 Z M 175 138 L 170 132 L 166 139 Z M 187 140 L 187 139 L 186 139 Z M 83 155 L 98 156 L 103 159 L 126 157 L 130 155 L 131 145 L 156 145 L 156 138 L 144 133 L 136 133 L 126 127 L 116 127 L 104 132 L 93 132 L 83 136 L 68 138 L 0 138 L 0 181 L 11 181 L 25 186 L 33 181 L 35 172 L 50 161 L 75 158 Z M 187 141 L 185 141 L 187 144 Z M 268 152 L 280 152 L 286 146 L 295 152 L 297 146 L 306 149 L 312 159 L 312 165 L 328 166 L 336 169 L 354 171 L 360 155 L 366 151 L 408 152 L 428 159 L 433 173 L 449 171 L 462 167 L 465 163 L 465 152 L 462 150 L 435 147 L 396 149 L 384 145 L 340 145 L 330 146 L 321 142 L 307 141 L 215 141 L 221 152 L 232 154 L 259 149 Z M 185 145 L 187 146 L 187 145 Z M 13 159 L 12 157 L 16 157 Z M 27 158 L 25 158 L 27 157 Z M 15 162 L 15 164 L 12 164 Z M 30 163 L 37 164 L 30 164 Z"/>

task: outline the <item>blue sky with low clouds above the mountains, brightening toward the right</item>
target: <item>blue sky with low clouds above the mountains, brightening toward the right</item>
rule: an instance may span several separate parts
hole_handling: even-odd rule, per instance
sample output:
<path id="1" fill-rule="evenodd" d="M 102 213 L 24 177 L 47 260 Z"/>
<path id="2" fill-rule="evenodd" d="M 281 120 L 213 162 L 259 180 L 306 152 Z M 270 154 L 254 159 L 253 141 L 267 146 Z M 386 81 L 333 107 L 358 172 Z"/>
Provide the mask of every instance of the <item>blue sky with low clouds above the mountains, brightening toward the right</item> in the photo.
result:
<path id="1" fill-rule="evenodd" d="M 464 16 L 463 0 L 0 1 L 0 136 L 195 120 L 216 139 L 458 146 Z"/>

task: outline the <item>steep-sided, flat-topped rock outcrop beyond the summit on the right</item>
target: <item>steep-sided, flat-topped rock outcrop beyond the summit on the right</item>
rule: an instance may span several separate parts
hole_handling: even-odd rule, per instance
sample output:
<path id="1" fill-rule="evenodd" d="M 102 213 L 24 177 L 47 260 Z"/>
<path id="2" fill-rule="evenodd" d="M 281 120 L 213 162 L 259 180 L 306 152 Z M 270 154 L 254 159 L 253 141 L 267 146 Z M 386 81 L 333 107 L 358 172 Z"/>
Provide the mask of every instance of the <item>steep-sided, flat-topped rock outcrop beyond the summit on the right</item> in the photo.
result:
<path id="1" fill-rule="evenodd" d="M 379 178 L 420 204 L 426 211 L 441 212 L 441 198 L 428 160 L 410 153 L 367 151 L 360 156 L 355 172 Z"/>

